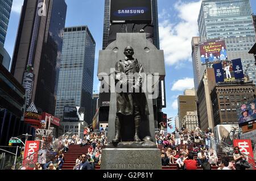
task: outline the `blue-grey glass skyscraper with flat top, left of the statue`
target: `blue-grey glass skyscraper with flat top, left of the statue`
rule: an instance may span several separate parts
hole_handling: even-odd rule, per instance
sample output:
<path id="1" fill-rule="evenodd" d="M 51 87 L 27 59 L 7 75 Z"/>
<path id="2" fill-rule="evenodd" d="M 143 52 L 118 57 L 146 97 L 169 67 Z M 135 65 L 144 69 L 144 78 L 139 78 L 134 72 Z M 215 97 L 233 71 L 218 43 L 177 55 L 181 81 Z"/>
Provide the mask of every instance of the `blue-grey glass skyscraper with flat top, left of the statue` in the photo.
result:
<path id="1" fill-rule="evenodd" d="M 87 26 L 65 28 L 55 111 L 61 121 L 64 106 L 75 106 L 84 107 L 84 121 L 92 123 L 95 48 Z"/>

